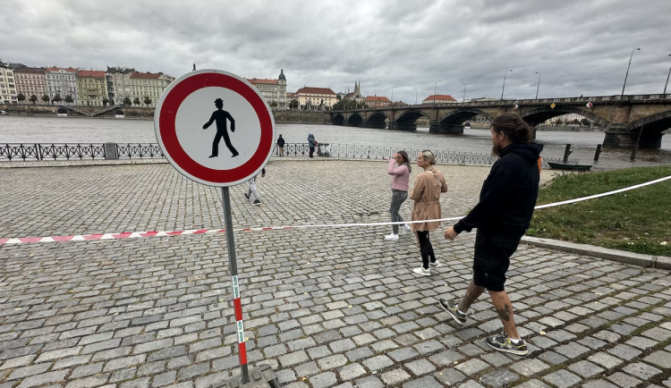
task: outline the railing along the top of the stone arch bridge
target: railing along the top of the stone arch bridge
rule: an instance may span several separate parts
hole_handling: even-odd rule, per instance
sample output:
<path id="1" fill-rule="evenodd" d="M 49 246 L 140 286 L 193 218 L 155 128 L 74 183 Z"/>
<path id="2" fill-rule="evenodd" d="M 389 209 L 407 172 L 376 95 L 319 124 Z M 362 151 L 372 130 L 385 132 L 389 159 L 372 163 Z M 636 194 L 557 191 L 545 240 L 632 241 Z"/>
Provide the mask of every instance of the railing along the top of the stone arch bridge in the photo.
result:
<path id="1" fill-rule="evenodd" d="M 349 109 L 346 111 L 330 111 L 330 113 L 344 113 L 344 112 L 363 112 L 363 111 L 378 111 L 391 109 L 419 109 L 419 108 L 430 108 L 430 107 L 454 107 L 454 106 L 501 106 L 501 105 L 545 105 L 552 103 L 584 103 L 587 104 L 588 101 L 599 102 L 599 101 L 658 101 L 658 100 L 671 100 L 671 94 L 644 94 L 644 95 L 615 95 L 615 96 L 594 96 L 594 97 L 560 97 L 560 98 L 522 98 L 522 99 L 497 99 L 492 101 L 468 101 L 468 102 L 454 102 L 454 103 L 437 103 L 437 104 L 414 104 L 414 105 L 388 105 L 388 106 L 376 106 L 369 107 L 366 109 Z"/>

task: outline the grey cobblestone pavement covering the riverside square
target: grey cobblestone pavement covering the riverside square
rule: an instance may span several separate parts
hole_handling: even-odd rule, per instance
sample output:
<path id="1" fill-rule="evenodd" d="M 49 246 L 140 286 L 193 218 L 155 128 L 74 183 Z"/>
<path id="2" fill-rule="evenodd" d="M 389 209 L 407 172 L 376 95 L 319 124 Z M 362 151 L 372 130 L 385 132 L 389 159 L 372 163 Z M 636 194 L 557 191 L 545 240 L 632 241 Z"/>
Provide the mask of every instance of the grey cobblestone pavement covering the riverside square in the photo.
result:
<path id="1" fill-rule="evenodd" d="M 273 163 L 263 206 L 232 190 L 235 223 L 386 220 L 385 167 Z M 488 169 L 440 168 L 444 214 L 462 215 Z M 166 164 L 9 169 L 0 185 L 2 236 L 222 224 L 217 190 Z M 237 234 L 251 366 L 291 388 L 671 386 L 668 271 L 520 246 L 506 289 L 530 354 L 509 356 L 484 343 L 501 328 L 488 299 L 461 327 L 437 306 L 470 280 L 473 233 L 434 233 L 446 266 L 418 277 L 413 239 L 386 232 Z M 239 373 L 222 234 L 4 245 L 0 263 L 0 388 L 205 388 Z"/>

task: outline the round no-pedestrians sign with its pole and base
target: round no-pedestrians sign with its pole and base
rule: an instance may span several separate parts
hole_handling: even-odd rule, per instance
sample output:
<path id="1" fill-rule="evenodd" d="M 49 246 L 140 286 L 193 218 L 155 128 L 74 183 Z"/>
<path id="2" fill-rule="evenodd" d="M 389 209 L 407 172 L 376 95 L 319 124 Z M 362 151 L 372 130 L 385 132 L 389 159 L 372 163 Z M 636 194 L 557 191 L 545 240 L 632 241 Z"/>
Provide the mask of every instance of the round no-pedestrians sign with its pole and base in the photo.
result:
<path id="1" fill-rule="evenodd" d="M 154 131 L 163 154 L 177 171 L 193 181 L 220 186 L 222 190 L 241 374 L 212 386 L 249 383 L 257 387 L 260 381 L 272 381 L 271 386 L 277 386 L 271 368 L 247 367 L 228 189 L 256 176 L 268 163 L 275 145 L 275 121 L 270 107 L 258 89 L 235 74 L 194 71 L 170 84 L 158 100 Z M 220 144 L 222 139 L 224 145 Z"/>

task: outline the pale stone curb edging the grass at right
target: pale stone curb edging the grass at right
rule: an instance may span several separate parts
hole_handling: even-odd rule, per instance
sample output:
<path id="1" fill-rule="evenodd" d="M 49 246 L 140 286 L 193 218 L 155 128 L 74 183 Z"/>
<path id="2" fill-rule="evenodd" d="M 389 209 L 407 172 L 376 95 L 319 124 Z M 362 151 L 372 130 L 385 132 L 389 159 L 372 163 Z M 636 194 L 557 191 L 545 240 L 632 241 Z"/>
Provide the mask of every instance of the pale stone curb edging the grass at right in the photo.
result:
<path id="1" fill-rule="evenodd" d="M 522 241 L 540 248 L 556 249 L 585 256 L 600 257 L 636 266 L 650 266 L 652 268 L 671 270 L 671 257 L 666 256 L 643 255 L 641 253 L 627 252 L 625 250 L 607 249 L 589 244 L 576 244 L 574 242 L 539 239 L 537 237 L 529 236 L 522 237 Z"/>

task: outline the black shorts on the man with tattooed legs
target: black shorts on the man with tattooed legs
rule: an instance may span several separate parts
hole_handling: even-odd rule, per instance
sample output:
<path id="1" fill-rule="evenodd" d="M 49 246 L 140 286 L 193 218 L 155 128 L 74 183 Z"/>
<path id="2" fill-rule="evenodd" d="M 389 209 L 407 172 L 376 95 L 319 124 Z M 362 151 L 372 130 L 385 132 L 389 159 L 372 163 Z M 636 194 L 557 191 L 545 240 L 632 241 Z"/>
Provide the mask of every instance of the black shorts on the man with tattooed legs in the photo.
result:
<path id="1" fill-rule="evenodd" d="M 475 235 L 473 283 L 488 291 L 504 291 L 505 272 L 522 236 L 478 230 Z"/>

